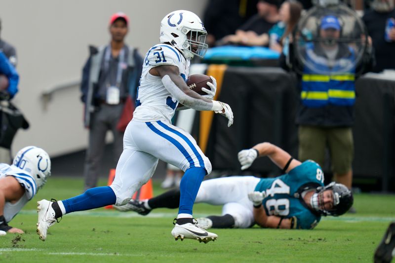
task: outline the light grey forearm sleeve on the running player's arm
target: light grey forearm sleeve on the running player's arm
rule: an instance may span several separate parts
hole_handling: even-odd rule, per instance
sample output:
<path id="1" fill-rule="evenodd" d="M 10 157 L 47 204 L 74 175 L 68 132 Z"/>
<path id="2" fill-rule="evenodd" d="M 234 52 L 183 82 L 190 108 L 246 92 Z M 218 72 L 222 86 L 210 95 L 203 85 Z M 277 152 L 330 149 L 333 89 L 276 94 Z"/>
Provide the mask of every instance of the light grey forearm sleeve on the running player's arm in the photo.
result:
<path id="1" fill-rule="evenodd" d="M 197 110 L 197 111 L 222 111 L 222 106 L 218 102 L 206 102 L 203 100 L 195 99 L 185 94 L 174 82 L 170 76 L 164 75 L 162 77 L 164 87 L 170 94 L 182 105 Z"/>

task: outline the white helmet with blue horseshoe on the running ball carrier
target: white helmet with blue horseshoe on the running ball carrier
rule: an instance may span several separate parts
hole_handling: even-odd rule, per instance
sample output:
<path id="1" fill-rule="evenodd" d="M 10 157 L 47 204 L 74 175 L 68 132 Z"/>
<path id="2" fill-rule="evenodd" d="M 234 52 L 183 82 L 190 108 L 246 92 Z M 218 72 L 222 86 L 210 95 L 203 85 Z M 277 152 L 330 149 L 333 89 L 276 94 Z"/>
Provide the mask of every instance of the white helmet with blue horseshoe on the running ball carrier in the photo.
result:
<path id="1" fill-rule="evenodd" d="M 173 11 L 160 22 L 160 42 L 169 42 L 186 59 L 193 59 L 195 55 L 204 57 L 208 48 L 206 36 L 207 31 L 200 18 L 190 11 Z"/>

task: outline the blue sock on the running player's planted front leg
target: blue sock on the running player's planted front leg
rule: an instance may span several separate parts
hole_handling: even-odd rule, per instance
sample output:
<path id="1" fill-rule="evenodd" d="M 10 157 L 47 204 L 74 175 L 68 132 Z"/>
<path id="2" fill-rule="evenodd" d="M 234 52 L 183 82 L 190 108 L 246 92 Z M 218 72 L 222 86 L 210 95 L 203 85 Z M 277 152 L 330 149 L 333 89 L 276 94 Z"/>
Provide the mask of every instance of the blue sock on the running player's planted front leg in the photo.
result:
<path id="1" fill-rule="evenodd" d="M 201 167 L 193 167 L 185 171 L 180 183 L 181 196 L 178 214 L 192 215 L 197 192 L 206 173 L 206 169 Z"/>

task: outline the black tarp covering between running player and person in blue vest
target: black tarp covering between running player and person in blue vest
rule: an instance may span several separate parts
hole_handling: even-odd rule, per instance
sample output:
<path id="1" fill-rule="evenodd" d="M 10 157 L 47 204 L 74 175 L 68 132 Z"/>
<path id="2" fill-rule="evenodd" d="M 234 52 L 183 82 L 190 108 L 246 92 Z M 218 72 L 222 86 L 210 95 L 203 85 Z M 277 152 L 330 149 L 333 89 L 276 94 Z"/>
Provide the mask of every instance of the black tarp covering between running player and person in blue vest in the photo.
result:
<path id="1" fill-rule="evenodd" d="M 237 172 L 237 152 L 263 141 L 297 154 L 298 98 L 291 75 L 279 68 L 229 67 L 219 100 L 232 107 L 235 122 L 228 128 L 226 118 L 214 116 L 206 152 L 214 169 Z M 268 158 L 260 158 L 250 170 L 268 174 L 276 167 Z"/>

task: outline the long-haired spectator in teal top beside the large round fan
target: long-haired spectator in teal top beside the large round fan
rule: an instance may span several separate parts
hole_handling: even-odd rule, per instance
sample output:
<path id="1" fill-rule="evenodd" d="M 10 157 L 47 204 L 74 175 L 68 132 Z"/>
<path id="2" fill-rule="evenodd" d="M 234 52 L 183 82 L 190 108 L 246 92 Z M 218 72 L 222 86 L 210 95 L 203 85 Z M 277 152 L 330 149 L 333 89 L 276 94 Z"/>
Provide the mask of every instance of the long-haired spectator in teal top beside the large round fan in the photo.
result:
<path id="1" fill-rule="evenodd" d="M 269 47 L 281 53 L 283 47 L 287 47 L 289 36 L 299 21 L 302 12 L 302 4 L 294 0 L 287 0 L 281 4 L 279 11 L 280 22 L 269 30 Z M 287 50 L 284 50 L 287 54 Z"/>

